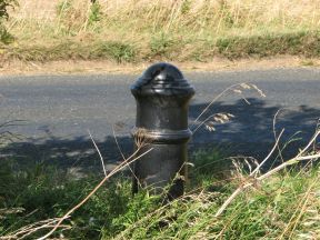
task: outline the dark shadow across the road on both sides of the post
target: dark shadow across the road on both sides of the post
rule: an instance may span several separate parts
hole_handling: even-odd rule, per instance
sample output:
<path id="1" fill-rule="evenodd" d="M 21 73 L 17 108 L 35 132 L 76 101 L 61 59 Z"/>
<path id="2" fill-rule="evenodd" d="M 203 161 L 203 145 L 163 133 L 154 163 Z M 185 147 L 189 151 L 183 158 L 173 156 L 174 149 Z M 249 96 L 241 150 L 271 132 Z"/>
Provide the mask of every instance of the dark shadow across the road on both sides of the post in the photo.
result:
<path id="1" fill-rule="evenodd" d="M 199 129 L 190 143 L 190 151 L 199 148 L 228 148 L 232 156 L 251 156 L 262 159 L 272 148 L 273 117 L 280 109 L 278 106 L 267 104 L 261 99 L 248 99 L 251 104 L 243 100 L 236 103 L 217 102 L 210 111 L 206 112 L 201 119 L 208 118 L 216 112 L 229 112 L 234 119 L 224 124 L 217 124 L 216 131 L 210 132 L 204 127 Z M 190 122 L 208 106 L 196 103 L 190 107 Z M 308 106 L 299 106 L 296 109 L 283 109 L 279 112 L 276 123 L 276 131 L 279 133 L 284 128 L 281 146 L 288 142 L 292 136 L 299 139 L 289 144 L 284 150 L 284 156 L 292 156 L 298 148 L 304 144 L 314 133 L 317 120 L 320 117 L 320 109 Z M 200 119 L 200 120 L 201 120 Z M 41 126 L 46 129 L 46 126 Z M 130 129 L 131 126 L 128 127 Z M 83 130 L 83 132 L 86 132 Z M 132 150 L 130 134 L 118 137 L 119 144 L 126 157 Z M 121 154 L 117 148 L 113 136 L 107 136 L 103 141 L 97 142 L 104 158 L 107 168 L 112 168 L 121 161 Z M 101 162 L 92 141 L 86 133 L 74 139 L 59 139 L 53 134 L 48 134 L 44 141 L 37 139 L 17 142 L 7 146 L 1 150 L 2 158 L 14 158 L 23 164 L 41 162 L 46 164 L 59 166 L 59 168 L 81 169 L 81 171 L 101 171 Z M 3 157 L 4 156 L 4 157 Z"/>

